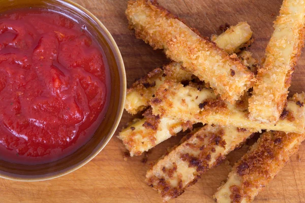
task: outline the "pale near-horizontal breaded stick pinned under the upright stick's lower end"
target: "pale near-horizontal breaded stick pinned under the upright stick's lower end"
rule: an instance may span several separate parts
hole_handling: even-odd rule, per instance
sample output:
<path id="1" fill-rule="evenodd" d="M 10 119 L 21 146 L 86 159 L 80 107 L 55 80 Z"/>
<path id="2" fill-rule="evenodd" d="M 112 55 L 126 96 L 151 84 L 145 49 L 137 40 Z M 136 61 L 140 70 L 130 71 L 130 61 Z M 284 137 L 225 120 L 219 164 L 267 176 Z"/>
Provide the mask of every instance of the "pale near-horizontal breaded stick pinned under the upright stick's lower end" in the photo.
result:
<path id="1" fill-rule="evenodd" d="M 201 90 L 201 91 L 200 91 Z M 240 128 L 252 129 L 253 131 L 278 130 L 285 132 L 302 133 L 305 127 L 304 96 L 296 94 L 288 101 L 286 109 L 282 112 L 281 119 L 277 124 L 260 123 L 248 118 L 248 95 L 237 101 L 235 105 L 216 98 L 202 100 L 209 89 L 183 86 L 172 81 L 165 81 L 155 93 L 150 104 L 154 115 L 191 121 L 192 123 L 207 123 Z M 301 97 L 300 100 L 294 98 Z"/>

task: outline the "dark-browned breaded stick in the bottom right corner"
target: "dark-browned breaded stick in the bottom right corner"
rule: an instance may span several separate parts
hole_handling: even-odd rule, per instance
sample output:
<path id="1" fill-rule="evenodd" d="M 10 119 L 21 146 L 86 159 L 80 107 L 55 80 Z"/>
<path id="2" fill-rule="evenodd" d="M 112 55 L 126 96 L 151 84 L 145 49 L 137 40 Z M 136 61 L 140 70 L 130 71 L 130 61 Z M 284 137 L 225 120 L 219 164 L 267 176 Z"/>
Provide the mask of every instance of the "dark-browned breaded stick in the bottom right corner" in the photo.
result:
<path id="1" fill-rule="evenodd" d="M 248 203 L 282 170 L 298 151 L 305 134 L 265 132 L 234 165 L 227 182 L 214 195 L 219 203 Z"/>

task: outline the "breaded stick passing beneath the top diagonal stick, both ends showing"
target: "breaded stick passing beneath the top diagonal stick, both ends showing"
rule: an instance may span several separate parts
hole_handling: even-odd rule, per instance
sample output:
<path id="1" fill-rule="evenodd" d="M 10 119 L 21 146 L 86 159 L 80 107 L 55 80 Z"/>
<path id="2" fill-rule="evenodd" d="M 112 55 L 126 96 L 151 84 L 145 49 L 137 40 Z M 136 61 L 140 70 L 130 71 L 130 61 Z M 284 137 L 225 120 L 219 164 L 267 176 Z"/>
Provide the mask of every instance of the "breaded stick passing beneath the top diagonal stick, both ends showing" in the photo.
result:
<path id="1" fill-rule="evenodd" d="M 214 37 L 214 41 L 228 53 L 233 51 L 237 53 L 240 47 L 247 47 L 252 44 L 253 41 L 249 40 L 251 36 L 250 25 L 247 22 L 240 22 L 235 26 L 231 26 L 219 37 Z M 171 62 L 164 66 L 164 74 L 160 68 L 157 68 L 137 80 L 127 90 L 125 109 L 128 113 L 136 114 L 146 109 L 149 106 L 151 96 L 155 94 L 165 77 L 166 79 L 181 82 L 191 80 L 193 75 L 182 66 L 182 63 L 177 62 Z"/>

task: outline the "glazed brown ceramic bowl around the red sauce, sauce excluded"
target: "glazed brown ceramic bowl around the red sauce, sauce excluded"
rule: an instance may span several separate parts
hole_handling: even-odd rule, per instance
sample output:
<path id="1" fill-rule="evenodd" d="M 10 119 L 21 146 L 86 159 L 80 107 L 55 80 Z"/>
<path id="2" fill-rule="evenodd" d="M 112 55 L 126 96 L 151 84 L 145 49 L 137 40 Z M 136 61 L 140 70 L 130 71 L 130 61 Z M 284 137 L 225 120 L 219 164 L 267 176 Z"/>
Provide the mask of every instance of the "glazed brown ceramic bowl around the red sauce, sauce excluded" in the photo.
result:
<path id="1" fill-rule="evenodd" d="M 109 142 L 123 114 L 126 74 L 119 49 L 107 28 L 92 13 L 69 0 L 0 0 L 0 13 L 19 8 L 51 9 L 80 18 L 102 46 L 110 69 L 110 104 L 92 138 L 73 154 L 38 165 L 0 160 L 0 177 L 19 181 L 41 181 L 71 173 L 93 159 Z"/>

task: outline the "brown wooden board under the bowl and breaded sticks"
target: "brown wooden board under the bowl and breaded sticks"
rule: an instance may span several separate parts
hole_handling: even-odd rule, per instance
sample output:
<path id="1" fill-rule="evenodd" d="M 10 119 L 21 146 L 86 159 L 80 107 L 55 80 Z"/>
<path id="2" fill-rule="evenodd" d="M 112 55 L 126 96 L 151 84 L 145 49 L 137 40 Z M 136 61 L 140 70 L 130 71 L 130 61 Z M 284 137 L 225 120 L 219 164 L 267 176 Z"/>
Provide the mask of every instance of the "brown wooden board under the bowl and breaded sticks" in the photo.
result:
<path id="1" fill-rule="evenodd" d="M 112 33 L 125 61 L 128 86 L 147 71 L 167 62 L 162 51 L 154 51 L 134 37 L 128 29 L 126 0 L 74 0 L 95 14 Z M 247 21 L 254 31 L 255 43 L 250 48 L 254 57 L 262 58 L 272 33 L 272 22 L 279 13 L 281 0 L 160 0 L 165 8 L 185 19 L 203 36 L 220 33 L 224 23 L 234 25 Z M 305 55 L 302 54 L 294 74 L 290 92 L 305 91 Z M 123 115 L 120 130 L 132 117 Z M 148 154 L 129 157 L 115 136 L 105 149 L 88 164 L 67 176 L 44 182 L 14 182 L 0 179 L 0 203 L 6 202 L 162 202 L 158 193 L 144 183 L 148 162 L 158 159 L 168 147 L 177 144 L 180 136 L 158 145 Z M 232 152 L 228 160 L 233 164 L 249 146 Z M 305 202 L 305 143 L 297 155 L 291 157 L 283 171 L 254 202 Z M 214 202 L 212 195 L 225 181 L 230 166 L 221 164 L 209 171 L 194 186 L 170 202 Z"/>

